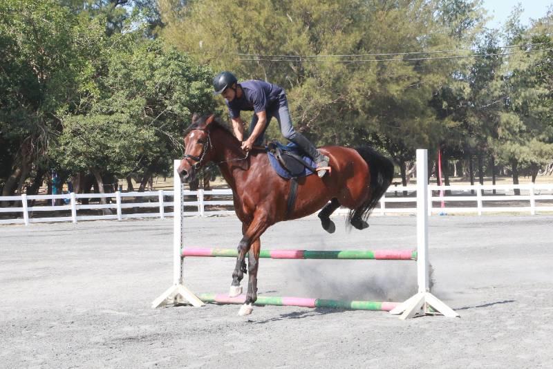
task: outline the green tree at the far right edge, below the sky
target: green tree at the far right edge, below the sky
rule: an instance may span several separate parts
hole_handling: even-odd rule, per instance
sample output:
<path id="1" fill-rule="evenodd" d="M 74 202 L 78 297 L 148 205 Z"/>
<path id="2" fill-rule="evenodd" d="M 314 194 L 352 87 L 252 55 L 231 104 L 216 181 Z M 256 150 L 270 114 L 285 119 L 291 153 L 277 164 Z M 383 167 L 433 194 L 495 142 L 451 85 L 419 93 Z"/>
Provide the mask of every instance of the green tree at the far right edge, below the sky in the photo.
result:
<path id="1" fill-rule="evenodd" d="M 509 56 L 503 83 L 505 110 L 498 135 L 490 140 L 499 162 L 511 168 L 515 185 L 521 170 L 529 171 L 534 181 L 538 169 L 553 160 L 553 54 L 550 50 L 538 52 L 553 47 L 549 36 L 552 15 L 525 30 L 519 26 L 520 13 L 521 8 L 516 8 L 507 22 L 507 38 L 536 45 L 521 46 L 518 50 L 526 53 Z"/>

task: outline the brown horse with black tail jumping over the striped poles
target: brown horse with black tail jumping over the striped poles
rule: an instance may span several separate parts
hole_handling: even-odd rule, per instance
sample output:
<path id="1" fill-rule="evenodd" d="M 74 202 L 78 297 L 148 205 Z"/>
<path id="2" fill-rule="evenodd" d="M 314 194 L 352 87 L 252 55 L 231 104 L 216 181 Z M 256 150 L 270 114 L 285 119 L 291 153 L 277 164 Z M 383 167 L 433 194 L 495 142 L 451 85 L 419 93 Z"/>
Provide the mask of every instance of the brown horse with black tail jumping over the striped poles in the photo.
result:
<path id="1" fill-rule="evenodd" d="M 182 182 L 194 180 L 200 167 L 215 162 L 232 188 L 243 238 L 238 243 L 229 296 L 242 293 L 240 282 L 246 272 L 245 255 L 249 252 L 247 272 L 250 278 L 245 304 L 238 312 L 240 315 L 250 314 L 257 299 L 260 237 L 268 227 L 283 220 L 308 216 L 324 207 L 319 218 L 324 229 L 332 233 L 335 226 L 329 216 L 342 205 L 350 209 L 348 222 L 357 229 L 364 229 L 368 227 L 366 218 L 393 178 L 392 162 L 373 149 L 324 146 L 321 152 L 330 158 L 331 173 L 323 178 L 316 175 L 299 178 L 297 200 L 288 209 L 291 181 L 277 175 L 265 151 L 244 153 L 241 142 L 217 122 L 214 115 L 199 117 L 194 114 L 192 124 L 185 131 L 185 148 L 178 167 Z"/>

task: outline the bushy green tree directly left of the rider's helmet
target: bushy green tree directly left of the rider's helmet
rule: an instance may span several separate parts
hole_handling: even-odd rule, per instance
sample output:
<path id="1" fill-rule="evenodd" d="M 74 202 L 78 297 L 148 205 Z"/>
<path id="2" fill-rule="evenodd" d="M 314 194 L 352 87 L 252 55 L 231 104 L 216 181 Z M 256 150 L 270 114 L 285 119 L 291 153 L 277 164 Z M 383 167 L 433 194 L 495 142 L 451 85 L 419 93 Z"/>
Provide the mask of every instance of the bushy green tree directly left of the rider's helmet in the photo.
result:
<path id="1" fill-rule="evenodd" d="M 161 41 L 135 45 L 131 35 L 118 35 L 116 45 L 106 52 L 88 111 L 64 119 L 56 157 L 75 172 L 167 170 L 192 113 L 214 108 L 212 71 Z"/>

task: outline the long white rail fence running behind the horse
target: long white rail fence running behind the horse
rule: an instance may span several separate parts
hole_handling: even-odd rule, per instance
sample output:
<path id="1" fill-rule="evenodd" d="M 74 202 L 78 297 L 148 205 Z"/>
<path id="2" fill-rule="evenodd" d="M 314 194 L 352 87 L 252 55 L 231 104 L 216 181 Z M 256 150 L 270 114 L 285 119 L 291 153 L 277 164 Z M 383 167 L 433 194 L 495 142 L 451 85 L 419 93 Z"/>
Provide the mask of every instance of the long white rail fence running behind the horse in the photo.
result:
<path id="1" fill-rule="evenodd" d="M 519 189 L 521 195 L 514 195 Z M 451 193 L 446 195 L 447 192 Z M 493 192 L 496 191 L 494 194 Z M 374 214 L 416 214 L 415 186 L 391 186 L 380 200 Z M 165 218 L 173 216 L 173 191 L 115 192 L 115 193 L 67 193 L 63 195 L 0 196 L 4 201 L 16 202 L 15 207 L 0 207 L 0 224 L 25 224 L 41 222 L 77 223 L 79 220 Z M 429 185 L 429 214 L 471 214 L 476 213 L 527 213 L 537 214 L 553 211 L 553 185 Z M 231 189 L 212 191 L 184 191 L 185 216 L 214 216 L 234 214 Z M 206 197 L 209 196 L 209 199 Z M 109 204 L 82 205 L 82 199 L 106 198 Z M 167 201 L 171 198 L 171 201 Z M 62 199 L 66 205 L 32 205 L 34 202 Z M 138 202 L 142 200 L 142 202 Z M 114 201 L 114 202 L 112 202 Z M 19 202 L 19 204 L 18 204 Z M 453 206 L 455 205 L 455 206 Z M 171 209 L 166 209 L 170 207 Z M 111 209 L 112 214 L 83 214 L 91 211 Z M 128 209 L 133 212 L 129 213 Z M 144 212 L 144 209 L 155 211 Z M 167 211 L 170 210 L 170 211 Z M 113 214 L 113 212 L 115 214 Z M 345 214 L 348 209 L 339 209 Z M 81 213 L 81 214 L 79 214 Z M 47 217 L 41 217 L 47 214 Z M 38 216 L 37 216 L 38 215 Z"/>

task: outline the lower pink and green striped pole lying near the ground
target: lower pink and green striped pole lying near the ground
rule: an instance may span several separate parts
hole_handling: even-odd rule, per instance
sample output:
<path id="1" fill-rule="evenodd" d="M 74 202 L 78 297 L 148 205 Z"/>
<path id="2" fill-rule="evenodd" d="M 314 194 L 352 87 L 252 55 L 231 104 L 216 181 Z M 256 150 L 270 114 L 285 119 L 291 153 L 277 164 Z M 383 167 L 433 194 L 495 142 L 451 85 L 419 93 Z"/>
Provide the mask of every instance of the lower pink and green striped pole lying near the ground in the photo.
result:
<path id="1" fill-rule="evenodd" d="M 241 294 L 229 297 L 226 294 L 198 294 L 205 303 L 243 304 L 246 296 Z M 257 296 L 254 305 L 299 306 L 302 308 L 330 308 L 345 310 L 373 310 L 389 312 L 400 303 L 376 301 L 340 301 L 326 299 L 307 299 L 304 297 Z"/>

